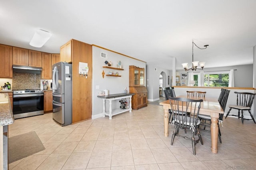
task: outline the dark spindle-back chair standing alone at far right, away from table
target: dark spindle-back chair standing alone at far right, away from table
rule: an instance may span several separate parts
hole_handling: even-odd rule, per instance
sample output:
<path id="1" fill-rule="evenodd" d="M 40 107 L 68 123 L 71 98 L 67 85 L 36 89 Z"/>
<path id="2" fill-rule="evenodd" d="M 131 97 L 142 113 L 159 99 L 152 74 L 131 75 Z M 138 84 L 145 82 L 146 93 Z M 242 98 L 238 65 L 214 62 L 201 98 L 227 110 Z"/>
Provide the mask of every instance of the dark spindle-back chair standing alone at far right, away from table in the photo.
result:
<path id="1" fill-rule="evenodd" d="M 236 93 L 236 105 L 229 105 L 228 107 L 230 108 L 225 119 L 228 117 L 231 109 L 237 109 L 238 110 L 238 115 L 232 115 L 232 116 L 236 116 L 242 119 L 242 124 L 244 124 L 244 120 L 254 120 L 254 117 L 252 116 L 251 113 L 251 107 L 252 107 L 252 103 L 255 97 L 256 93 L 240 93 L 240 92 L 234 92 Z M 241 111 L 241 116 L 240 116 L 240 111 Z M 252 117 L 252 119 L 245 119 L 244 118 L 244 111 L 248 111 L 250 113 L 250 116 Z"/>

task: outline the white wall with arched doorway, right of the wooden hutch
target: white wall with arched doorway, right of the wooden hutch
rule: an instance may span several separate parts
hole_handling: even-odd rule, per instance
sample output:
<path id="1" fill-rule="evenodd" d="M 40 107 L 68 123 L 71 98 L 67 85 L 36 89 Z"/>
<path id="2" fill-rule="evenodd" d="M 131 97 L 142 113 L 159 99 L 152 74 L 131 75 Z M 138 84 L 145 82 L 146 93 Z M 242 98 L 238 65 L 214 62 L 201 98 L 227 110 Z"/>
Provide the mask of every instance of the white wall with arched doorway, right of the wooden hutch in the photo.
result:
<path id="1" fill-rule="evenodd" d="M 163 69 L 160 67 L 155 67 L 154 65 L 146 66 L 146 81 L 147 81 L 147 90 L 148 90 L 148 101 L 159 100 L 159 76 L 163 71 L 166 74 L 166 83 L 163 87 L 171 87 L 171 71 L 168 69 Z M 168 76 L 170 76 L 170 85 L 168 85 Z"/>

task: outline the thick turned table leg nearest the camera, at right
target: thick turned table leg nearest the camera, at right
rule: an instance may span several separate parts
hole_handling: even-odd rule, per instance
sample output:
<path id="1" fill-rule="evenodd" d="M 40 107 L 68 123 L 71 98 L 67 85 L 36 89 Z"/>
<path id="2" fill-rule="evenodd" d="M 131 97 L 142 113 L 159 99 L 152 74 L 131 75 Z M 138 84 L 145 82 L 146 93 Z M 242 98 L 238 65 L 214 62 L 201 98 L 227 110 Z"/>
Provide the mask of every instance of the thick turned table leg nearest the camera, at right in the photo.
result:
<path id="1" fill-rule="evenodd" d="M 218 153 L 218 118 L 211 117 L 211 139 L 212 139 L 212 153 L 217 154 Z"/>

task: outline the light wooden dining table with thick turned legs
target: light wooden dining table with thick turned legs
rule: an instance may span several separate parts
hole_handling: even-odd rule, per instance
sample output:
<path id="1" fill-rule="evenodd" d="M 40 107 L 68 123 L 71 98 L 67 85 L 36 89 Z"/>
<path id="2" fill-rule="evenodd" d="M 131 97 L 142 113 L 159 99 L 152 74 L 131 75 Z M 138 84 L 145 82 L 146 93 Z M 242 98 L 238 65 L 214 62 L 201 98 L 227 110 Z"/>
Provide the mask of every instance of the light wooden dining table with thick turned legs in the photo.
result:
<path id="1" fill-rule="evenodd" d="M 183 98 L 189 98 L 189 99 L 203 99 L 199 113 L 202 115 L 211 116 L 211 122 L 212 122 L 211 123 L 211 141 L 212 141 L 211 150 L 212 150 L 212 153 L 217 154 L 218 153 L 218 130 L 219 130 L 218 119 L 219 119 L 219 114 L 223 113 L 223 109 L 220 106 L 218 99 L 212 98 L 212 97 L 199 97 L 199 98 L 188 97 L 187 95 L 180 95 L 176 97 L 183 97 Z M 164 136 L 168 137 L 168 125 L 169 125 L 168 109 L 171 109 L 170 101 L 166 100 L 159 104 L 163 105 L 163 108 L 164 108 Z"/>

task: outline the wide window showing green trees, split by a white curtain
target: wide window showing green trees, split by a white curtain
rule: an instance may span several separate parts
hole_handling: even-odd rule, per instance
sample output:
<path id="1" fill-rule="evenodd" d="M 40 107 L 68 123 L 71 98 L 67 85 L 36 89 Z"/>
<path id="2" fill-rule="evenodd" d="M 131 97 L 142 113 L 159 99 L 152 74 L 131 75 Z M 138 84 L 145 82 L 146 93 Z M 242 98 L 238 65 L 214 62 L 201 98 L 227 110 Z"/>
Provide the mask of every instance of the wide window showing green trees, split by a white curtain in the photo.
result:
<path id="1" fill-rule="evenodd" d="M 230 71 L 216 71 L 204 73 L 204 87 L 228 87 Z M 195 84 L 194 86 L 198 86 L 198 82 L 200 82 L 200 74 L 193 75 Z"/>

